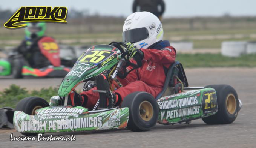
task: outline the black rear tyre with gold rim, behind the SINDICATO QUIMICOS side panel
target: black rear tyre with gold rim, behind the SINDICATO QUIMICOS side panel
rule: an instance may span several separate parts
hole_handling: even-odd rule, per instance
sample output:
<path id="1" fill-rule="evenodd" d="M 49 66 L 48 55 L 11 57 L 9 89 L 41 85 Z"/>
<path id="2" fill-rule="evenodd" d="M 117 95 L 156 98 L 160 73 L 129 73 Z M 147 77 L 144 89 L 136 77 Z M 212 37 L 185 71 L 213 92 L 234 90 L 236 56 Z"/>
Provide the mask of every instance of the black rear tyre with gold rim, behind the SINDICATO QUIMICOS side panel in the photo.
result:
<path id="1" fill-rule="evenodd" d="M 206 124 L 230 124 L 236 120 L 238 115 L 238 95 L 230 85 L 208 85 L 204 88 L 213 88 L 216 91 L 218 112 L 215 115 L 202 118 Z M 227 103 L 231 102 L 231 103 Z M 230 104 L 231 107 L 227 107 Z M 233 106 L 232 106 L 233 104 Z"/>

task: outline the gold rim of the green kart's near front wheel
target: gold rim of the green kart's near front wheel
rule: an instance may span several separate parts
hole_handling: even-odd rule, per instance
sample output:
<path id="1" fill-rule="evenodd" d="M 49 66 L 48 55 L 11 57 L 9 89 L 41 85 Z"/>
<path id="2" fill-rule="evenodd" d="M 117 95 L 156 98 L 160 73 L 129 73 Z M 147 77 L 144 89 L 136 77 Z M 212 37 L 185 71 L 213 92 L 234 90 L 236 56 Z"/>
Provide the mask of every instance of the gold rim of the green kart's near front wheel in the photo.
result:
<path id="1" fill-rule="evenodd" d="M 153 106 L 148 101 L 143 101 L 139 105 L 139 116 L 144 121 L 149 121 L 153 117 Z"/>

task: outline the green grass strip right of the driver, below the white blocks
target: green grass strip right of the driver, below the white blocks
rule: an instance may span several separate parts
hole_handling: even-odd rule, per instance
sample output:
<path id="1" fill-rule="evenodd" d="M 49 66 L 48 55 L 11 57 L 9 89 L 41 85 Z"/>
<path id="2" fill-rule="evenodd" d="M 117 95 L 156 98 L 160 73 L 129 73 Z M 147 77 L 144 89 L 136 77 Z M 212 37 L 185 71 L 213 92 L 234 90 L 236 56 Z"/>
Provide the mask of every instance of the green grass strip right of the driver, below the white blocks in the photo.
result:
<path id="1" fill-rule="evenodd" d="M 256 67 L 256 54 L 225 57 L 221 54 L 177 54 L 184 67 Z"/>

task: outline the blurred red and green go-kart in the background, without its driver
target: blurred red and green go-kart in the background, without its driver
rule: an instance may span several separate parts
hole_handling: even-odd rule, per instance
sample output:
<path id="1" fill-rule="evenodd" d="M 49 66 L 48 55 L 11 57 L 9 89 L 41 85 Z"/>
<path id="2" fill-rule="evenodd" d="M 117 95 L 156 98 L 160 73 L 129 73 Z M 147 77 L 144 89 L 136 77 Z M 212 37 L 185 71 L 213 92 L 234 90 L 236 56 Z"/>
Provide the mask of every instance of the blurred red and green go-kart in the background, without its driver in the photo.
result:
<path id="1" fill-rule="evenodd" d="M 39 39 L 36 48 L 40 49 L 37 54 L 42 54 L 44 57 L 44 59 L 36 60 L 43 61 L 45 63 L 43 66 L 31 66 L 31 61 L 25 60 L 23 55 L 12 52 L 7 60 L 0 61 L 0 75 L 12 75 L 14 78 L 23 78 L 24 76 L 64 77 L 76 61 L 74 58 L 60 57 L 60 48 L 52 37 Z"/>

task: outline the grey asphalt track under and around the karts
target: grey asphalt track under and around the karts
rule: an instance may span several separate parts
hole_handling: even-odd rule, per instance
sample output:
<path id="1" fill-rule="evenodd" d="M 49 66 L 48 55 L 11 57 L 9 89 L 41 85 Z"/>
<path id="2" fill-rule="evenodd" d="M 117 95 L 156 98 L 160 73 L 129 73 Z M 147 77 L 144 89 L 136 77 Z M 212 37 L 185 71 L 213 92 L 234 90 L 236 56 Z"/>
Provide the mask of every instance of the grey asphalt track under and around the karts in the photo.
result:
<path id="1" fill-rule="evenodd" d="M 201 119 L 191 124 L 157 124 L 147 132 L 129 130 L 95 131 L 79 133 L 54 133 L 54 136 L 75 134 L 75 141 L 9 141 L 14 130 L 0 130 L 0 147 L 185 147 L 185 148 L 255 148 L 256 147 L 256 68 L 185 69 L 190 86 L 230 84 L 238 93 L 243 106 L 235 122 L 227 125 L 207 125 Z M 11 83 L 29 89 L 57 86 L 55 79 L 0 79 L 0 88 Z M 46 134 L 47 136 L 48 134 Z"/>

